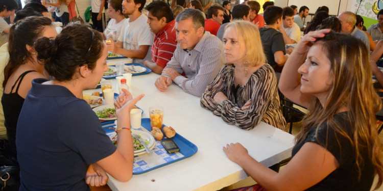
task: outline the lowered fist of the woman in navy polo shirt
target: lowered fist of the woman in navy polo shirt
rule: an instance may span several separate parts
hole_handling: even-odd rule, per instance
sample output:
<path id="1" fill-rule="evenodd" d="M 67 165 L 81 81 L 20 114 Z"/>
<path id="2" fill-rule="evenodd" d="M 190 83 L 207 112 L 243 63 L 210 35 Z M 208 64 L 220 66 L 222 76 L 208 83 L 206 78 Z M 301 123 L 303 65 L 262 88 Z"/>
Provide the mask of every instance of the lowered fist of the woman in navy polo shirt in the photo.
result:
<path id="1" fill-rule="evenodd" d="M 103 186 L 108 181 L 108 175 L 96 163 L 89 165 L 85 175 L 85 182 L 89 186 Z"/>

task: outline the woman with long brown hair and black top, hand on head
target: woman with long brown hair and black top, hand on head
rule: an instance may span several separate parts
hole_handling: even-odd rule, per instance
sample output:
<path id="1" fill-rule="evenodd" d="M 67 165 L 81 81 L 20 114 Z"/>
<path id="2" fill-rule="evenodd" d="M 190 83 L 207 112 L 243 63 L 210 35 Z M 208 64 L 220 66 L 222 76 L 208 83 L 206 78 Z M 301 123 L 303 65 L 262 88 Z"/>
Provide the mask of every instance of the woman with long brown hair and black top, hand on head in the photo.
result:
<path id="1" fill-rule="evenodd" d="M 291 161 L 273 172 L 239 143 L 223 148 L 230 160 L 267 190 L 370 190 L 375 175 L 380 187 L 375 114 L 381 101 L 361 40 L 329 29 L 308 33 L 284 65 L 279 89 L 309 110 Z"/>

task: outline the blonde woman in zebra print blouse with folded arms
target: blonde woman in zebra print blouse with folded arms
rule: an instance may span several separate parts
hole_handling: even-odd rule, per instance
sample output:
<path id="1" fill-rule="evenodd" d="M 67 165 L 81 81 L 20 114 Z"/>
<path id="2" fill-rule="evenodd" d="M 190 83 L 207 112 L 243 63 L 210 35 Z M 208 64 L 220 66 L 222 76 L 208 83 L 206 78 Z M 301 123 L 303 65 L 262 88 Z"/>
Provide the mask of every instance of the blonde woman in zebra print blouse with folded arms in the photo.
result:
<path id="1" fill-rule="evenodd" d="M 201 97 L 201 106 L 225 122 L 253 129 L 261 121 L 287 131 L 277 78 L 266 64 L 259 31 L 249 21 L 229 23 L 223 36 L 225 64 Z"/>

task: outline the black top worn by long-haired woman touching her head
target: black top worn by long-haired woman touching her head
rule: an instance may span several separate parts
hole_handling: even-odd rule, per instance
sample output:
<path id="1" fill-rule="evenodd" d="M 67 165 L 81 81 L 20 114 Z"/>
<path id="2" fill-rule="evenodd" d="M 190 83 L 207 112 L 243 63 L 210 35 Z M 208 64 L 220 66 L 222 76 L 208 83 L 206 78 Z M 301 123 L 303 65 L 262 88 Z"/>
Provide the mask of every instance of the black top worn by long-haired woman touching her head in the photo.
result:
<path id="1" fill-rule="evenodd" d="M 334 120 L 340 125 L 343 130 L 352 138 L 354 133 L 354 125 L 348 119 L 347 112 L 338 113 L 333 116 Z M 374 166 L 369 158 L 369 149 L 366 143 L 360 141 L 361 156 L 363 157 L 364 166 L 361 170 L 361 179 L 358 179 L 359 172 L 355 167 L 356 157 L 353 151 L 353 145 L 339 132 L 330 128 L 327 124 L 323 124 L 316 132 L 316 126 L 308 131 L 308 135 L 304 141 L 295 145 L 292 151 L 292 157 L 302 148 L 307 142 L 313 142 L 318 145 L 325 144 L 329 151 L 339 162 L 339 168 L 330 173 L 326 178 L 306 189 L 315 190 L 370 190 L 374 181 Z"/>

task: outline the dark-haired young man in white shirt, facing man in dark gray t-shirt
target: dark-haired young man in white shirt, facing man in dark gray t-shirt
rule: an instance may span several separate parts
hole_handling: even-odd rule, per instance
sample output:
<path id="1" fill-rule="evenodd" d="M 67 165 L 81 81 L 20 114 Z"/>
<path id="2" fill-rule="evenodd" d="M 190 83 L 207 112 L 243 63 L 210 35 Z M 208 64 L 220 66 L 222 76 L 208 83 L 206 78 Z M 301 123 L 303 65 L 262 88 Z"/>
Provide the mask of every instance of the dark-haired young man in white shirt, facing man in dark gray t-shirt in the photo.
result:
<path id="1" fill-rule="evenodd" d="M 301 40 L 301 30 L 294 22 L 294 10 L 290 7 L 283 8 L 282 27 L 279 31 L 283 35 L 284 44 L 296 44 Z"/>

